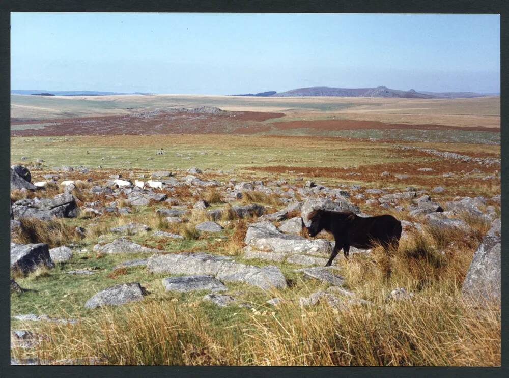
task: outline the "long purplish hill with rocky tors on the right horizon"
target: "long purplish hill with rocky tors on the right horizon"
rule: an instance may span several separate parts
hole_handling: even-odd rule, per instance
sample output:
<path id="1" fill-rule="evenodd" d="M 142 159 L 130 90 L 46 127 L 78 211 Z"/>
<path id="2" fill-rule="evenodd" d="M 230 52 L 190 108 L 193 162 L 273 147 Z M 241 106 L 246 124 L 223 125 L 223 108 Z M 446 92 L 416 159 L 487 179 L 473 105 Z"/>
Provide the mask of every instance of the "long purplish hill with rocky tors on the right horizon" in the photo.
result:
<path id="1" fill-rule="evenodd" d="M 334 97 L 398 97 L 398 98 L 466 98 L 497 96 L 495 93 L 474 93 L 474 92 L 416 92 L 411 89 L 401 91 L 390 89 L 386 86 L 376 88 L 331 88 L 329 86 L 314 86 L 310 88 L 298 88 L 287 92 L 277 93 L 262 92 L 253 95 L 236 96 L 265 96 L 265 97 L 299 97 L 299 96 L 334 96 Z"/>

